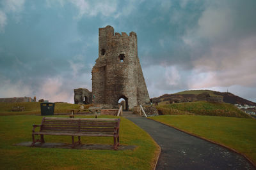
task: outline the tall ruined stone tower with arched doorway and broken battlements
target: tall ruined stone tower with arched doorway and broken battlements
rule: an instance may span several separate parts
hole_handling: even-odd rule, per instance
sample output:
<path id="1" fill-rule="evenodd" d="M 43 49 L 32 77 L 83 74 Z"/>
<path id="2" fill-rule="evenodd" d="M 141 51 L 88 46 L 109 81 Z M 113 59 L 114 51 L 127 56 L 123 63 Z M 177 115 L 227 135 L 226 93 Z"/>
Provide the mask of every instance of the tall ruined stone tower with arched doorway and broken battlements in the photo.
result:
<path id="1" fill-rule="evenodd" d="M 121 98 L 125 110 L 150 104 L 136 33 L 119 34 L 108 25 L 99 29 L 99 57 L 92 69 L 92 103 L 118 108 Z"/>

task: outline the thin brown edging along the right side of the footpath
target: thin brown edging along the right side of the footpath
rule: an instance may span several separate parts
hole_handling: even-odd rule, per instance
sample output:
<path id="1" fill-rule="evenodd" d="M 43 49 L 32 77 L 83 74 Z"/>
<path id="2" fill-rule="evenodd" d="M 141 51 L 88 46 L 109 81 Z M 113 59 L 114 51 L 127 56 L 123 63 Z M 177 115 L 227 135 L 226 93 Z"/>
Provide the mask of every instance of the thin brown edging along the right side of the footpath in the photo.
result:
<path id="1" fill-rule="evenodd" d="M 154 120 L 154 119 L 152 119 L 152 118 L 149 118 L 149 119 L 150 119 L 150 120 Z M 173 127 L 172 125 L 164 124 L 163 122 L 159 122 L 159 121 L 157 121 L 157 120 L 154 120 L 154 121 L 155 121 L 155 122 L 158 122 L 158 123 L 160 123 L 160 124 L 163 124 L 163 125 L 167 125 L 167 126 L 169 126 L 169 127 L 172 127 L 172 128 L 174 128 L 174 129 L 176 129 L 176 130 L 178 130 L 178 131 L 184 132 L 184 133 L 189 134 L 189 135 L 191 135 L 191 136 L 195 136 L 196 138 L 200 138 L 200 139 L 203 139 L 203 140 L 205 140 L 205 141 L 209 141 L 209 142 L 214 143 L 214 144 L 216 144 L 216 145 L 219 145 L 219 146 L 222 146 L 222 147 L 224 147 L 224 148 L 227 148 L 228 150 L 231 150 L 232 152 L 235 152 L 235 153 L 237 153 L 237 154 L 243 156 L 246 160 L 248 160 L 248 161 L 256 168 L 256 163 L 255 163 L 255 162 L 253 162 L 252 160 L 250 160 L 246 155 L 244 155 L 244 153 L 238 152 L 238 151 L 235 150 L 234 148 L 230 148 L 229 146 L 223 145 L 223 144 L 221 144 L 221 143 L 218 143 L 218 142 L 215 142 L 215 141 L 211 141 L 210 139 L 206 139 L 206 138 L 204 138 L 204 137 L 202 137 L 202 136 L 198 136 L 198 135 L 193 134 L 193 133 L 191 133 L 191 132 L 187 132 L 187 131 L 184 131 L 184 130 L 179 129 L 179 128 L 177 128 L 177 127 Z M 157 159 L 157 160 L 158 160 L 158 159 Z"/>

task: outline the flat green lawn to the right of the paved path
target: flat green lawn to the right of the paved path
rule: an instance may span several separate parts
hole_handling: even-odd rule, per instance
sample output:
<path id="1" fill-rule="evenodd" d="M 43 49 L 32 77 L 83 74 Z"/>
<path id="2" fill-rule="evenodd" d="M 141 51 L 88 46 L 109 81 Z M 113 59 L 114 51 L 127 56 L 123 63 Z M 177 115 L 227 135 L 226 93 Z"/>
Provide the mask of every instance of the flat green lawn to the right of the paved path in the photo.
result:
<path id="1" fill-rule="evenodd" d="M 162 115 L 150 118 L 234 148 L 256 163 L 255 119 L 193 115 Z"/>

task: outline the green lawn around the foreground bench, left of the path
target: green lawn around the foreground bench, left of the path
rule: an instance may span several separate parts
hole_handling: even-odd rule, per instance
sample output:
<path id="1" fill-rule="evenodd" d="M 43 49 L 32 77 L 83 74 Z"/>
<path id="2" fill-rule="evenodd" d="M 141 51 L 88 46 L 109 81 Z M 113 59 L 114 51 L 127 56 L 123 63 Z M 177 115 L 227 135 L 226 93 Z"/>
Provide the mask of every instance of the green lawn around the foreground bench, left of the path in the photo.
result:
<path id="1" fill-rule="evenodd" d="M 121 118 L 120 145 L 138 146 L 134 150 L 13 146 L 31 141 L 32 124 L 40 124 L 41 120 L 41 116 L 35 115 L 0 118 L 1 169 L 152 169 L 154 166 L 158 146 L 145 131 L 126 118 Z M 84 144 L 113 145 L 113 138 L 106 137 L 82 136 L 81 141 Z M 45 142 L 71 143 L 72 140 L 70 136 L 45 136 Z"/>

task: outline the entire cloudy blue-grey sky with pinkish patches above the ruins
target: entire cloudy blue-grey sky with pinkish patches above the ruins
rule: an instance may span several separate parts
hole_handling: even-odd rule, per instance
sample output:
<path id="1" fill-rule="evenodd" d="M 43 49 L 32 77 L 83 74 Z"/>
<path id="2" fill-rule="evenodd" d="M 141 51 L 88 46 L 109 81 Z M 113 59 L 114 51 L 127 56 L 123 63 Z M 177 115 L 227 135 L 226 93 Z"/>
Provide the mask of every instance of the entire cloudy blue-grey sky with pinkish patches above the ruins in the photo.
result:
<path id="1" fill-rule="evenodd" d="M 1 0 L 0 97 L 74 103 L 92 90 L 99 27 L 138 35 L 150 97 L 232 92 L 256 102 L 255 0 Z"/>

